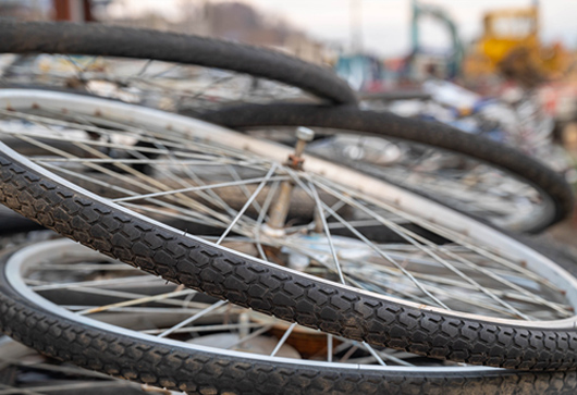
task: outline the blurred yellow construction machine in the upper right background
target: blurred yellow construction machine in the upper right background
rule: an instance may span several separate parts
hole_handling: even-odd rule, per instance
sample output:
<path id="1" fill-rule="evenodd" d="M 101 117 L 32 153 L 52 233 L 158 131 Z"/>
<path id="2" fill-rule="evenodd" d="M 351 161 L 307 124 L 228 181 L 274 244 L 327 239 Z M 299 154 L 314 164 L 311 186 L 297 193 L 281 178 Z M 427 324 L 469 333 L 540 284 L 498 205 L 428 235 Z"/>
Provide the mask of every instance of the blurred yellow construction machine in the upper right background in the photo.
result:
<path id="1" fill-rule="evenodd" d="M 545 79 L 563 73 L 568 53 L 561 45 L 543 47 L 539 40 L 537 5 L 488 12 L 483 35 L 465 60 L 467 76 L 502 72 L 521 82 Z"/>

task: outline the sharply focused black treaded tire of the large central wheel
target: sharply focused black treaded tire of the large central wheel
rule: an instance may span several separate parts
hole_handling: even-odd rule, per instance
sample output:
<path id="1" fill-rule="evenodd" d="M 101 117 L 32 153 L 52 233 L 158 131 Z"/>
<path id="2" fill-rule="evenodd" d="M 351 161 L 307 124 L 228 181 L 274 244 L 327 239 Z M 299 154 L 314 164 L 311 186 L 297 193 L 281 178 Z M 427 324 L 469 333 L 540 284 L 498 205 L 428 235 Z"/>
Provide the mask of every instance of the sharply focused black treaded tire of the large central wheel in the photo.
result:
<path id="1" fill-rule="evenodd" d="M 328 333 L 432 358 L 526 370 L 577 367 L 575 329 L 495 323 L 358 292 L 232 252 L 131 213 L 8 148 L 0 165 L 0 199 L 5 206 L 108 256 L 211 296 Z M 478 231 L 495 232 L 479 224 Z M 507 243 L 515 247 L 515 240 Z M 573 284 L 574 280 L 567 281 Z"/>

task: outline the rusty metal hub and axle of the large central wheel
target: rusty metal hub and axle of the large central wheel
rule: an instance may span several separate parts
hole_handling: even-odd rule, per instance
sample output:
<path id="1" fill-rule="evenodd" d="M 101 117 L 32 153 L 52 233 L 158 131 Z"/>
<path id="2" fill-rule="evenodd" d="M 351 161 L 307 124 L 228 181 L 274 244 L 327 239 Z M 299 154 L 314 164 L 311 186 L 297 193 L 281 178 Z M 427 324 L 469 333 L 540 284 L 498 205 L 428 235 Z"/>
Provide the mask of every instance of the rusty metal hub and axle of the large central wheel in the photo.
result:
<path id="1" fill-rule="evenodd" d="M 305 151 L 307 143 L 311 141 L 314 137 L 315 132 L 308 127 L 300 126 L 296 129 L 297 140 L 295 151 L 288 156 L 288 161 L 286 162 L 287 166 L 295 170 L 303 170 L 303 163 L 305 160 L 302 155 Z M 288 209 L 291 208 L 291 195 L 293 188 L 294 184 L 291 181 L 283 181 L 281 183 L 277 199 L 269 211 L 269 221 L 266 224 L 267 229 L 272 231 L 281 231 L 284 229 L 286 217 L 288 215 Z"/>

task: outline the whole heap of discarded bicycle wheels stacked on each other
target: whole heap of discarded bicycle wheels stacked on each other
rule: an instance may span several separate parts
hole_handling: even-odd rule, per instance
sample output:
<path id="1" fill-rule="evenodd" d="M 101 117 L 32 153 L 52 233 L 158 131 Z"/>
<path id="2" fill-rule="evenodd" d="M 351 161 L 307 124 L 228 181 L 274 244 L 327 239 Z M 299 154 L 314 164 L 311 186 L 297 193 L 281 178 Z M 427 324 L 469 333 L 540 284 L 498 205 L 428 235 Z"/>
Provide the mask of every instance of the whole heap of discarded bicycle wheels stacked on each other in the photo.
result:
<path id="1" fill-rule="evenodd" d="M 573 195 L 536 159 L 273 51 L 0 35 L 0 201 L 34 221 L 2 211 L 0 394 L 575 393 L 575 261 L 521 235 Z"/>

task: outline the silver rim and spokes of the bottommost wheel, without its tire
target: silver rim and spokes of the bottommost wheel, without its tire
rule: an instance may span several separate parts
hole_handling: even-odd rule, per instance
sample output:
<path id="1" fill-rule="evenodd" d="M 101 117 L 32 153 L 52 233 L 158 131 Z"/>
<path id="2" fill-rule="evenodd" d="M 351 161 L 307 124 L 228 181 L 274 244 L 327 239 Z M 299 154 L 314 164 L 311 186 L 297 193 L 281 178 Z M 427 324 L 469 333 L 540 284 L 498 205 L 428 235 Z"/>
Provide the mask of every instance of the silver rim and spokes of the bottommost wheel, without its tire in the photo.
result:
<path id="1" fill-rule="evenodd" d="M 94 263 L 93 263 L 94 262 Z M 105 263 L 106 262 L 106 263 Z M 107 264 L 110 263 L 110 264 Z M 120 267 L 119 267 L 120 266 Z M 78 267 L 78 268 L 76 268 Z M 91 267 L 91 268 L 88 268 Z M 107 268 L 108 267 L 108 268 Z M 426 360 L 423 362 L 412 363 L 412 358 L 417 356 L 409 355 L 408 353 L 395 353 L 391 349 L 376 349 L 367 344 L 359 342 L 347 341 L 341 337 L 333 337 L 329 334 L 310 331 L 300 325 L 282 325 L 282 321 L 275 319 L 267 319 L 265 316 L 259 316 L 250 312 L 246 309 L 238 309 L 234 306 L 225 306 L 222 301 L 195 301 L 188 299 L 186 296 L 195 295 L 194 292 L 186 289 L 179 291 L 179 287 L 165 286 L 161 279 L 146 275 L 145 273 L 138 272 L 130 267 L 114 262 L 108 257 L 105 257 L 98 252 L 89 250 L 81 245 L 74 244 L 66 239 L 57 239 L 37 243 L 27 247 L 22 248 L 10 257 L 5 267 L 4 273 L 7 275 L 8 283 L 26 300 L 33 303 L 47 311 L 56 313 L 62 318 L 67 318 L 77 323 L 88 325 L 98 330 L 106 331 L 108 333 L 116 333 L 119 335 L 126 335 L 131 338 L 137 338 L 148 342 L 162 344 L 165 346 L 177 346 L 194 351 L 208 351 L 218 355 L 225 355 L 229 357 L 240 359 L 250 359 L 255 361 L 269 361 L 274 363 L 283 363 L 293 366 L 295 369 L 302 366 L 330 368 L 330 369 L 342 369 L 342 370 L 366 370 L 375 372 L 412 372 L 415 374 L 451 374 L 451 373 L 482 373 L 482 372 L 499 372 L 502 369 L 484 368 L 484 367 L 472 367 L 462 365 L 445 365 L 435 366 L 433 360 Z M 115 276 L 114 272 L 123 271 L 124 276 Z M 64 273 L 76 273 L 77 276 L 74 279 L 78 280 L 83 276 L 89 276 L 91 273 L 99 272 L 102 276 L 97 280 L 86 281 L 71 281 L 62 280 L 59 276 L 56 282 L 44 277 L 50 272 L 64 272 Z M 107 271 L 112 273 L 111 276 L 105 274 Z M 130 275 L 135 274 L 135 275 Z M 134 289 L 152 289 L 147 295 L 136 294 L 138 291 Z M 54 299 L 53 295 L 50 295 L 51 291 L 61 291 L 64 294 L 70 292 L 67 300 L 72 300 L 74 305 L 63 305 L 62 301 L 51 301 Z M 105 306 L 85 306 L 83 304 L 77 305 L 78 295 L 88 295 L 88 297 L 98 297 L 107 295 L 109 297 L 119 298 L 122 303 L 107 304 Z M 62 294 L 56 297 L 62 299 Z M 84 301 L 83 301 L 84 303 Z M 161 306 L 151 306 L 150 303 L 165 304 Z M 146 304 L 151 307 L 146 307 Z M 139 306 L 145 305 L 140 310 Z M 200 307 L 197 307 L 200 306 Z M 132 309 L 131 309 L 132 308 Z M 169 316 L 170 308 L 173 309 L 172 314 L 174 317 L 169 319 L 152 320 L 149 322 L 145 321 L 145 325 L 156 325 L 158 322 L 167 324 L 168 328 L 154 326 L 155 329 L 144 329 L 143 320 L 132 319 L 135 317 L 155 317 Z M 183 312 L 184 308 L 191 308 L 192 312 Z M 196 308 L 196 310 L 195 310 Z M 226 308 L 236 309 L 236 318 L 230 316 L 230 322 L 234 322 L 237 319 L 237 326 L 234 325 L 214 325 L 213 322 L 220 322 L 221 311 Z M 220 309 L 220 311 L 219 311 Z M 168 314 L 167 314 L 168 313 Z M 249 314 L 248 324 L 242 321 L 242 316 Z M 211 318 L 211 317 L 214 318 Z M 186 317 L 186 319 L 183 319 Z M 205 321 L 202 321 L 205 320 Z M 183 325 L 183 323 L 185 323 Z M 134 330 L 135 325 L 138 330 Z M 280 325 L 280 326 L 277 326 Z M 221 338 L 210 337 L 197 337 L 197 342 L 191 342 L 186 337 L 191 333 L 238 333 L 238 340 L 231 342 L 232 347 L 223 347 Z M 243 333 L 244 331 L 244 333 Z M 251 332 L 250 332 L 251 331 Z M 294 338 L 295 334 L 298 336 L 298 332 L 303 333 L 304 336 L 322 336 L 322 342 L 331 344 L 326 349 L 332 349 L 335 354 L 329 358 L 327 351 L 324 351 L 324 359 L 315 359 L 304 356 L 292 356 L 291 349 L 295 344 L 299 342 L 299 338 Z M 272 353 L 270 348 L 258 347 L 258 344 L 253 349 L 243 347 L 241 341 L 250 342 L 254 338 L 262 338 L 265 336 L 272 336 L 274 338 L 274 349 Z M 183 337 L 185 336 L 185 337 Z M 293 342 L 287 341 L 293 336 Z M 198 342 L 206 341 L 206 342 Z M 220 344 L 219 344 L 220 342 Z M 315 346 L 319 340 L 312 340 L 305 345 L 295 345 L 298 351 L 303 351 L 305 347 Z M 214 344 L 217 343 L 217 344 Z M 282 354 L 267 355 L 279 353 L 282 350 L 281 347 L 288 348 L 287 353 L 283 356 Z M 233 349 L 231 349 L 233 348 Z M 341 349 L 341 350 L 339 350 Z M 359 351 L 365 357 L 357 357 L 356 359 L 351 358 L 355 351 Z M 347 353 L 348 351 L 348 353 Z M 341 360 L 336 359 L 336 355 L 340 355 Z M 344 356 L 344 357 L 343 357 Z M 318 357 L 318 355 L 317 355 Z M 322 357 L 322 355 L 321 355 Z M 351 359 L 349 359 L 351 358 Z M 344 359 L 344 361 L 343 361 Z M 359 360 L 358 362 L 354 362 Z M 423 365 L 418 365 L 423 363 Z M 444 365 L 446 362 L 441 362 Z"/>

